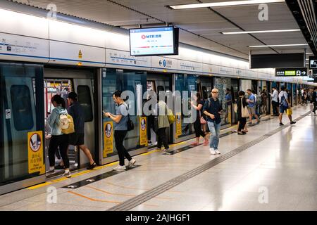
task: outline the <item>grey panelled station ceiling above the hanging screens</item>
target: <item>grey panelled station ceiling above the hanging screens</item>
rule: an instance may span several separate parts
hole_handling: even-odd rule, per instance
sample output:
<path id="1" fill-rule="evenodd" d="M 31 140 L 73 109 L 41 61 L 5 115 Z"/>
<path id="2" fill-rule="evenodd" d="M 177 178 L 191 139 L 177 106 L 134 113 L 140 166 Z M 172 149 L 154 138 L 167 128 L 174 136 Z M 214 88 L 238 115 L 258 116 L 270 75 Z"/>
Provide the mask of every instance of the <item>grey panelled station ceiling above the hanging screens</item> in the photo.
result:
<path id="1" fill-rule="evenodd" d="M 309 46 L 251 49 L 249 46 L 271 44 L 307 44 L 301 31 L 261 34 L 221 34 L 255 30 L 299 29 L 297 21 L 285 2 L 268 4 L 268 20 L 259 20 L 259 5 L 225 6 L 173 10 L 166 6 L 198 4 L 232 0 L 14 0 L 46 9 L 56 5 L 56 11 L 66 15 L 94 20 L 125 29 L 164 26 L 180 27 L 180 41 L 204 49 L 249 59 L 252 53 L 295 53 Z"/>

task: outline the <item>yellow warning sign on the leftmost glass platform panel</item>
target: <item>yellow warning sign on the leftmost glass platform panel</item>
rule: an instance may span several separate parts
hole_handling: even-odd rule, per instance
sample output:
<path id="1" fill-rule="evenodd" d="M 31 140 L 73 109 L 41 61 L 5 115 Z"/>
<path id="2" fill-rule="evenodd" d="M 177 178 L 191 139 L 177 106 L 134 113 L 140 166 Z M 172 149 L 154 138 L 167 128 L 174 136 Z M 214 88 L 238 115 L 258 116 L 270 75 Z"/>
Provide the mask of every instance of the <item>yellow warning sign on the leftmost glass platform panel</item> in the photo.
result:
<path id="1" fill-rule="evenodd" d="M 33 174 L 35 172 L 39 172 L 39 174 L 45 174 L 42 137 L 42 131 L 27 132 L 29 174 Z"/>

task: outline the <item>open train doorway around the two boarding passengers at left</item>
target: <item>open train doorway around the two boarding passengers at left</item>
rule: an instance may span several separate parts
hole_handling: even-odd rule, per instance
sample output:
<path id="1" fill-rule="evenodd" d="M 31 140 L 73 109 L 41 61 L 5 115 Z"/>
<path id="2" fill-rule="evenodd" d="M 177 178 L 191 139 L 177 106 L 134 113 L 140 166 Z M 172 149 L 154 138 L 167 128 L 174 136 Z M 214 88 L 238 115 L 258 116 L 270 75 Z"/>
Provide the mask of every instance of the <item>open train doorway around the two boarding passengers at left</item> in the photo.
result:
<path id="1" fill-rule="evenodd" d="M 89 148 L 92 157 L 95 158 L 95 118 L 94 118 L 94 73 L 90 70 L 58 70 L 44 69 L 44 96 L 45 109 L 51 111 L 51 97 L 61 94 L 66 100 L 67 94 L 75 91 L 78 101 L 85 113 L 85 146 Z M 48 145 L 46 145 L 48 146 Z M 46 149 L 47 154 L 47 149 Z M 70 169 L 79 169 L 89 164 L 89 160 L 79 148 L 69 146 L 68 156 L 70 158 Z M 48 162 L 48 160 L 46 159 Z M 58 165 L 58 153 L 56 154 L 56 165 Z"/>

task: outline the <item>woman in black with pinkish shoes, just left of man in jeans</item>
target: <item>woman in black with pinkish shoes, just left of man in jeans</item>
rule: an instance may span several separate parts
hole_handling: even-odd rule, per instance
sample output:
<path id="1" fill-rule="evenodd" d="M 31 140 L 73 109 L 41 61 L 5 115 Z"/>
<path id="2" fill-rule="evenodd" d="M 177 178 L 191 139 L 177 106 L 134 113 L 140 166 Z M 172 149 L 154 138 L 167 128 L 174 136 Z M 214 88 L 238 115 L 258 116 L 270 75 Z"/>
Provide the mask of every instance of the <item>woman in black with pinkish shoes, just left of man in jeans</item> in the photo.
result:
<path id="1" fill-rule="evenodd" d="M 209 140 L 206 137 L 206 134 L 204 131 L 201 130 L 201 124 L 206 124 L 206 120 L 204 117 L 202 117 L 201 110 L 204 106 L 204 102 L 201 101 L 201 97 L 199 92 L 197 92 L 196 95 L 193 96 L 194 101 L 197 102 L 196 105 L 192 103 L 192 107 L 196 110 L 196 120 L 194 122 L 194 129 L 195 129 L 195 134 L 196 134 L 196 142 L 192 143 L 193 146 L 197 146 L 199 144 L 199 137 L 202 136 L 205 141 L 204 141 L 204 146 L 207 146 L 209 144 Z"/>

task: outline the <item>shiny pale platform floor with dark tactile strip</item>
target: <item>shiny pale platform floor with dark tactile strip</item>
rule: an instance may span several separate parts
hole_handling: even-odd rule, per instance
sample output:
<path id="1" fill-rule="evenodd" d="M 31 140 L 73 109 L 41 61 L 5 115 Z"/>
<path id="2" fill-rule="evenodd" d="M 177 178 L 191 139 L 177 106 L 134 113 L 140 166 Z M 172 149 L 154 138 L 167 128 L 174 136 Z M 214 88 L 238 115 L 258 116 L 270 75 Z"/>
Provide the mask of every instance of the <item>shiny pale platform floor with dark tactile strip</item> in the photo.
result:
<path id="1" fill-rule="evenodd" d="M 126 172 L 111 172 L 116 162 L 1 195 L 0 210 L 317 210 L 317 116 L 310 111 L 295 107 L 292 126 L 286 115 L 283 127 L 269 117 L 247 135 L 223 136 L 221 155 L 209 146 L 186 149 L 189 140 L 173 155 L 136 156 L 139 166 Z M 51 187 L 57 203 L 49 203 Z"/>

